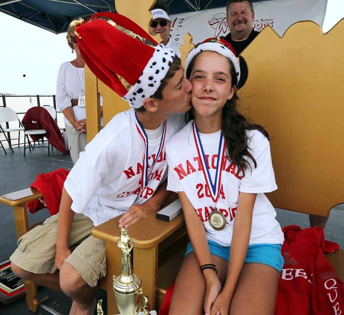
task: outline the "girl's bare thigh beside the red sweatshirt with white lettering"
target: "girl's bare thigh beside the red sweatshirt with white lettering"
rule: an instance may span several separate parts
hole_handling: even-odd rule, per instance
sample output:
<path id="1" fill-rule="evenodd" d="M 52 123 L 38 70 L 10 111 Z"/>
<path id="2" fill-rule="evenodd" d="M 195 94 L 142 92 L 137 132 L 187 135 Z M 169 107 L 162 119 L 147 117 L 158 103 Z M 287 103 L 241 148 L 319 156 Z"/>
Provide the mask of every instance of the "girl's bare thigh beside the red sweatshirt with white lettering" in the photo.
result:
<path id="1" fill-rule="evenodd" d="M 276 269 L 244 263 L 230 304 L 230 315 L 273 315 L 278 285 Z"/>

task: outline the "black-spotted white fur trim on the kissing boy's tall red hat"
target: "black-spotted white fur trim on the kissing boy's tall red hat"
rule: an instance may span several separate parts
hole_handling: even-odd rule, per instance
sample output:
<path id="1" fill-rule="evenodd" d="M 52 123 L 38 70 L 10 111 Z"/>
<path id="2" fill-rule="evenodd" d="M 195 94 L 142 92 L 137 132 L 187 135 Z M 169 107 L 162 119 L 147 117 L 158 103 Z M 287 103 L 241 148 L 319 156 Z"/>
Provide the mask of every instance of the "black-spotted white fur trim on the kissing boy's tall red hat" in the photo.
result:
<path id="1" fill-rule="evenodd" d="M 143 105 L 143 99 L 152 96 L 165 77 L 175 52 L 170 47 L 158 44 L 142 74 L 123 98 L 133 108 Z"/>

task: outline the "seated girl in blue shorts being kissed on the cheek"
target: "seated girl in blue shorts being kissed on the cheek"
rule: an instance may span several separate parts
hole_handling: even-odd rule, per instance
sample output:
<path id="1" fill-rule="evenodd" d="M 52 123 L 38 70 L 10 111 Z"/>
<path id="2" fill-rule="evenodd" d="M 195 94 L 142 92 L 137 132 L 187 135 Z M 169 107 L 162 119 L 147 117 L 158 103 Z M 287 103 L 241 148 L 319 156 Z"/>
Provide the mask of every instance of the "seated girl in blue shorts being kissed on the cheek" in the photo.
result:
<path id="1" fill-rule="evenodd" d="M 277 188 L 267 132 L 236 109 L 240 68 L 229 43 L 188 53 L 193 110 L 167 142 L 167 189 L 177 191 L 190 243 L 169 314 L 272 315 L 283 234 L 264 195 Z"/>

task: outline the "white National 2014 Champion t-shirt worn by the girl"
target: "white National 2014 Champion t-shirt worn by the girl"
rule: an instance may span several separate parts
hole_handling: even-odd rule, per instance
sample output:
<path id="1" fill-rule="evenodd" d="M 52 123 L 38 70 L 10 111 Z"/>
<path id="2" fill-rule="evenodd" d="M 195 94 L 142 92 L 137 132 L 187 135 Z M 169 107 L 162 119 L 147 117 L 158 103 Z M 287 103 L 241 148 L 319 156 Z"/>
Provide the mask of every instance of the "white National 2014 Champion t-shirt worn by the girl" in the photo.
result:
<path id="1" fill-rule="evenodd" d="M 266 137 L 258 130 L 247 131 L 248 147 L 256 160 L 257 167 L 249 159 L 252 171 L 245 170 L 237 174 L 237 166 L 226 158 L 221 174 L 221 190 L 216 207 L 226 218 L 222 230 L 213 229 L 208 223 L 208 215 L 214 209 L 198 158 L 193 139 L 192 121 L 177 132 L 167 143 L 166 156 L 168 161 L 167 189 L 183 191 L 198 216 L 203 221 L 207 238 L 222 246 L 230 246 L 233 222 L 237 207 L 239 192 L 257 193 L 253 207 L 252 227 L 249 244 L 283 242 L 283 234 L 276 221 L 276 212 L 263 192 L 277 188 L 271 162 L 270 146 Z M 201 134 L 205 157 L 210 164 L 210 176 L 215 177 L 220 131 L 211 134 Z M 183 148 L 182 150 L 180 148 Z"/>

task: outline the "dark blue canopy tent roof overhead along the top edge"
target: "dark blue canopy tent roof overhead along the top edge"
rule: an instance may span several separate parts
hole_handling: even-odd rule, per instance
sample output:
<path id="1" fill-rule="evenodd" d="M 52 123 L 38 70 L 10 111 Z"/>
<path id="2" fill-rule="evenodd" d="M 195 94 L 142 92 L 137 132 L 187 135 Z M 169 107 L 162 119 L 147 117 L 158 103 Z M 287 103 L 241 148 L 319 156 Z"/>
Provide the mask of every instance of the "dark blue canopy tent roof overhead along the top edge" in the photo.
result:
<path id="1" fill-rule="evenodd" d="M 259 0 L 253 0 L 257 2 Z M 223 7 L 227 0 L 157 0 L 169 14 Z M 69 22 L 96 12 L 116 12 L 114 0 L 0 0 L 0 11 L 53 33 L 67 31 Z"/>

